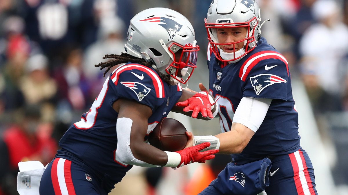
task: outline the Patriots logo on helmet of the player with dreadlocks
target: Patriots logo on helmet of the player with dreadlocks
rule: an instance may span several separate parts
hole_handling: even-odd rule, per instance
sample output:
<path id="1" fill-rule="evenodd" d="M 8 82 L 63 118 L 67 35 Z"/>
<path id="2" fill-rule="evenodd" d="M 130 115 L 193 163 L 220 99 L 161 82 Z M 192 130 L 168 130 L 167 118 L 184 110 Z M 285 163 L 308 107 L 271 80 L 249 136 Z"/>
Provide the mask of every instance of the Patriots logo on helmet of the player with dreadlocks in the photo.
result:
<path id="1" fill-rule="evenodd" d="M 165 17 L 151 17 L 151 18 L 139 20 L 138 22 L 149 22 L 149 23 L 155 23 L 162 26 L 163 28 L 167 30 L 171 40 L 176 35 L 176 32 L 179 32 L 182 27 L 181 24 L 175 22 L 174 20 L 170 18 L 165 18 Z"/>

